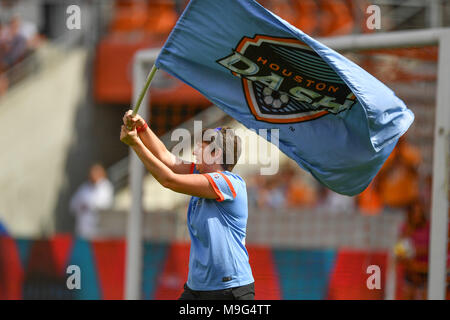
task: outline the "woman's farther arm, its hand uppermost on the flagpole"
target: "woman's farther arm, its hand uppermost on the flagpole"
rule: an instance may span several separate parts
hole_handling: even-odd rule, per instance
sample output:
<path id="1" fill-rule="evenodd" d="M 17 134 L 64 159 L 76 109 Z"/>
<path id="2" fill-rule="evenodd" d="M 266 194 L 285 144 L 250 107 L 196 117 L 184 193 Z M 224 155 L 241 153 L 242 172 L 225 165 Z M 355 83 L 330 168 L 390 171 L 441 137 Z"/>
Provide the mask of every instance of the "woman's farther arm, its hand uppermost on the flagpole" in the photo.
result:
<path id="1" fill-rule="evenodd" d="M 145 125 L 145 120 L 139 115 L 133 116 L 131 110 L 128 110 L 125 113 L 123 122 L 125 125 L 130 125 L 133 128 Z M 145 130 L 138 132 L 138 136 L 147 149 L 173 172 L 180 174 L 191 173 L 191 163 L 182 161 L 167 150 L 164 143 L 156 136 L 150 127 L 147 126 Z"/>

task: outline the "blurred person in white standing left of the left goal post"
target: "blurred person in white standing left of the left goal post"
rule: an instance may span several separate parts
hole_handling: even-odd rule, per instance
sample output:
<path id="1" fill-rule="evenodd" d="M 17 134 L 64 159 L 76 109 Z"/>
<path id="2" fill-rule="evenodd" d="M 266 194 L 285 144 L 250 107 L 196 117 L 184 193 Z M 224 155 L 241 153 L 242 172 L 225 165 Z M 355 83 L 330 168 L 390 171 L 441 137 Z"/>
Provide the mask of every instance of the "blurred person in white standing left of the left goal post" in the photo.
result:
<path id="1" fill-rule="evenodd" d="M 89 181 L 83 183 L 70 201 L 70 211 L 75 214 L 75 232 L 81 238 L 92 239 L 98 235 L 98 210 L 113 204 L 113 186 L 105 169 L 94 164 L 89 170 Z"/>

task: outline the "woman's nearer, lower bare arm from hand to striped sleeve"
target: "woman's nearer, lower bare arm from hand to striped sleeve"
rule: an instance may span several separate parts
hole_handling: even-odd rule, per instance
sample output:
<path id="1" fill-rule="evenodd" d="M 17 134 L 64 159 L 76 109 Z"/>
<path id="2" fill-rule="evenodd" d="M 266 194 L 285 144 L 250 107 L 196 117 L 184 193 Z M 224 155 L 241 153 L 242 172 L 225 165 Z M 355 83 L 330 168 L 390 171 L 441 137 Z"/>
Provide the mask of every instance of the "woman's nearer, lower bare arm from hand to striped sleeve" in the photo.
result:
<path id="1" fill-rule="evenodd" d="M 216 191 L 204 175 L 178 174 L 173 172 L 145 147 L 143 142 L 138 138 L 136 129 L 128 131 L 128 129 L 122 125 L 120 140 L 133 148 L 147 170 L 165 188 L 200 198 L 218 198 Z"/>

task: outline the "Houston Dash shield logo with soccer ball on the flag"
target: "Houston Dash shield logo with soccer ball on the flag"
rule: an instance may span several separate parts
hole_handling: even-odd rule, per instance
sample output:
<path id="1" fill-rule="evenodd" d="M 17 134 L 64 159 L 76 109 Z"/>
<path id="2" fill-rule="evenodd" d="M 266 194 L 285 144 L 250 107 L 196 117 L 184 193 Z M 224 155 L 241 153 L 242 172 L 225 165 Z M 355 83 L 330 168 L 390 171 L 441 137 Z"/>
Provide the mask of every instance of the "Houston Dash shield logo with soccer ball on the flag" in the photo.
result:
<path id="1" fill-rule="evenodd" d="M 244 37 L 217 63 L 242 79 L 248 106 L 260 121 L 302 122 L 338 114 L 356 103 L 336 72 L 297 39 Z"/>

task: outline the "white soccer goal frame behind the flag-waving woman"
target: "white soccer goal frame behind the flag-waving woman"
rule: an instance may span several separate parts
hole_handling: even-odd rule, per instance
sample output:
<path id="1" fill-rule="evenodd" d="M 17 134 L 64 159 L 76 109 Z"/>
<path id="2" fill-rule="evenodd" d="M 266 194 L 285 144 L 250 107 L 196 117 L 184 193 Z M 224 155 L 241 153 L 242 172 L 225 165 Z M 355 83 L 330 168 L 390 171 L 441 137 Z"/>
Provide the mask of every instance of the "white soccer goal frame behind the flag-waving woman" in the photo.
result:
<path id="1" fill-rule="evenodd" d="M 437 89 L 432 156 L 431 236 L 429 244 L 428 299 L 444 299 L 446 291 L 446 261 L 448 232 L 448 179 L 450 133 L 450 28 L 351 35 L 319 39 L 337 51 L 436 46 L 438 48 Z M 138 99 L 148 72 L 159 49 L 139 51 L 133 64 L 133 103 Z M 383 81 L 383 79 L 380 79 Z M 144 98 L 140 114 L 148 118 L 149 98 Z M 420 115 L 416 114 L 417 117 Z M 127 224 L 125 298 L 139 299 L 142 273 L 142 183 L 145 168 L 138 157 L 130 153 L 129 185 L 131 207 Z"/>

